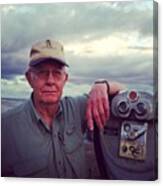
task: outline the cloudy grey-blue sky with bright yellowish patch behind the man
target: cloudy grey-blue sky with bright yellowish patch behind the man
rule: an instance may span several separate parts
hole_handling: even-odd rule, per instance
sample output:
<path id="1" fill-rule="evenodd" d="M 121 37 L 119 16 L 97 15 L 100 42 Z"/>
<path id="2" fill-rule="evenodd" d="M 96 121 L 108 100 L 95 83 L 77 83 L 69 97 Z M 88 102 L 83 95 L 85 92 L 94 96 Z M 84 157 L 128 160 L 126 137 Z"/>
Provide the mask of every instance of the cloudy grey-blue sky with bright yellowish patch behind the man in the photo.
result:
<path id="1" fill-rule="evenodd" d="M 64 94 L 87 92 L 98 78 L 152 89 L 152 0 L 2 5 L 2 97 L 29 97 L 30 47 L 48 38 L 63 43 L 70 65 Z"/>

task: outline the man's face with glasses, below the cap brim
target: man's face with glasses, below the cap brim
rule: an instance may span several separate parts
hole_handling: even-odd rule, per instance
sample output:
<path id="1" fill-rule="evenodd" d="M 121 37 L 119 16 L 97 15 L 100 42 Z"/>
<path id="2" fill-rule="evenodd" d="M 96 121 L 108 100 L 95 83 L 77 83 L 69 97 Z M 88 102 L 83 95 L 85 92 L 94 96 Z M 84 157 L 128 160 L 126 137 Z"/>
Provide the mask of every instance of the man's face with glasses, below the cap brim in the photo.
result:
<path id="1" fill-rule="evenodd" d="M 33 88 L 35 101 L 53 104 L 60 100 L 68 75 L 62 65 L 46 62 L 32 67 L 26 77 Z"/>

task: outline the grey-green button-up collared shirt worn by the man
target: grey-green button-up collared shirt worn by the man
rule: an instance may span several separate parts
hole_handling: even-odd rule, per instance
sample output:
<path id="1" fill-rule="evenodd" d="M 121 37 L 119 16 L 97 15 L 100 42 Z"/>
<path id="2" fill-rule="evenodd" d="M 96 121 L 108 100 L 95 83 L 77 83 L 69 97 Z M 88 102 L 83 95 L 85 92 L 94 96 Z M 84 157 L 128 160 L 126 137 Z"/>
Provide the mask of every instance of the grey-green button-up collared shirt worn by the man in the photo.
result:
<path id="1" fill-rule="evenodd" d="M 86 100 L 86 96 L 63 98 L 51 128 L 32 99 L 2 114 L 2 176 L 87 178 Z"/>

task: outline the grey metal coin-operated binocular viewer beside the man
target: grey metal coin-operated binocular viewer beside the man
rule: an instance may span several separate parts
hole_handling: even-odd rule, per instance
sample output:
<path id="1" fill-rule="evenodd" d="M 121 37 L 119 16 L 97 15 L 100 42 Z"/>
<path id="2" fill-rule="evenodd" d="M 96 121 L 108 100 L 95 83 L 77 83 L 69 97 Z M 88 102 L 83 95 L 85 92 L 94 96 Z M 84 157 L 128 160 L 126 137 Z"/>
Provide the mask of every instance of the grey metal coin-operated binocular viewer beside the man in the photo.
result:
<path id="1" fill-rule="evenodd" d="M 157 118 L 153 95 L 136 90 L 110 100 L 111 117 L 94 132 L 95 153 L 104 179 L 157 179 Z"/>

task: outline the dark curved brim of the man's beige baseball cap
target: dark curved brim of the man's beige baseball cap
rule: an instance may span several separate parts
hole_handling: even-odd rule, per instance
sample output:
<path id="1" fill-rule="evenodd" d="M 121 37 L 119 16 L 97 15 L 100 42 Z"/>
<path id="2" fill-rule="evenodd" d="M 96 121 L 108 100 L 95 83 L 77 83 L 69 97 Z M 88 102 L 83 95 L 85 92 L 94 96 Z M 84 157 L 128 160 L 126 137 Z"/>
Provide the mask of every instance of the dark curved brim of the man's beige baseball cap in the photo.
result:
<path id="1" fill-rule="evenodd" d="M 63 60 L 61 60 L 59 58 L 54 58 L 54 57 L 45 57 L 45 58 L 39 58 L 37 60 L 32 60 L 32 61 L 30 61 L 29 65 L 30 66 L 35 66 L 35 65 L 38 65 L 40 63 L 45 63 L 48 60 L 50 60 L 51 62 L 54 61 L 55 63 L 59 63 L 59 64 L 61 64 L 63 66 L 69 67 L 69 65 L 67 63 L 65 63 L 65 61 L 63 61 Z"/>

